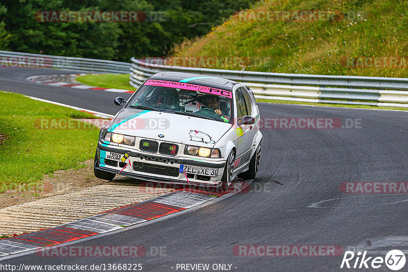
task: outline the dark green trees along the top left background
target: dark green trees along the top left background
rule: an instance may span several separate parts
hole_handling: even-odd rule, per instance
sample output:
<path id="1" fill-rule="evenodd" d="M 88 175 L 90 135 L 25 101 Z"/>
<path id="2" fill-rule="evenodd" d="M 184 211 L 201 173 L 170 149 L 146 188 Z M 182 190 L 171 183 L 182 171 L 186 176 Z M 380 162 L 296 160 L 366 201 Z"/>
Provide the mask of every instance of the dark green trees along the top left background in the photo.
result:
<path id="1" fill-rule="evenodd" d="M 207 34 L 254 0 L 14 0 L 0 8 L 0 48 L 13 51 L 129 62 L 161 57 L 174 43 Z M 43 22 L 39 11 L 166 12 L 165 21 Z M 0 18 L 1 19 L 1 18 Z M 10 35 L 11 34 L 11 35 Z"/>

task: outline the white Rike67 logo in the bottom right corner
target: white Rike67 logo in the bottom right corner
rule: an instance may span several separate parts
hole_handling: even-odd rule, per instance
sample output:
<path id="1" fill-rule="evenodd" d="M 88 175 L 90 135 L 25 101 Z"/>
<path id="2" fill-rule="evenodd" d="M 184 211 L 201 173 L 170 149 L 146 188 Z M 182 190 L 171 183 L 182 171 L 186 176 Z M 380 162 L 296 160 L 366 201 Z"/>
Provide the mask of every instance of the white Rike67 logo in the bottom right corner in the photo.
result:
<path id="1" fill-rule="evenodd" d="M 354 254 L 352 251 L 346 251 L 343 256 L 340 268 L 380 268 L 384 264 L 391 270 L 400 270 L 405 265 L 405 254 L 400 250 L 392 250 L 387 253 L 385 259 L 382 257 L 366 257 L 367 251 Z M 355 257 L 355 260 L 354 260 Z"/>

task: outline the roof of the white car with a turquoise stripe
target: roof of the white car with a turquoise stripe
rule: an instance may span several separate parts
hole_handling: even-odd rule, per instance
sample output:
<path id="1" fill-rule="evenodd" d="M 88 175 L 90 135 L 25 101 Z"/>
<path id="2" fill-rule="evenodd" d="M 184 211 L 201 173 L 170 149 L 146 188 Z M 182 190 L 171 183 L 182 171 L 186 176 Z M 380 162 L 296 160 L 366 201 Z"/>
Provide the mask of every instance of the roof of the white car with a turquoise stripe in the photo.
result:
<path id="1" fill-rule="evenodd" d="M 226 78 L 182 72 L 160 72 L 152 75 L 149 79 L 184 82 L 227 91 L 232 91 L 234 85 L 238 84 L 237 81 Z"/>

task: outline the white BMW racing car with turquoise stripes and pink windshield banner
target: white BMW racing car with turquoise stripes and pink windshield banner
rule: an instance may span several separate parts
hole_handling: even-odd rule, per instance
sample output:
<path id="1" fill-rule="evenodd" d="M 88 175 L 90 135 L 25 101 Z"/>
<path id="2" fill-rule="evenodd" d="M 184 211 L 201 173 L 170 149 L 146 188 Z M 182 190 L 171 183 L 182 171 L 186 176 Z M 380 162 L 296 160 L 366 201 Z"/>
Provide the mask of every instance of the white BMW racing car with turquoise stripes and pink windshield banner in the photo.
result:
<path id="1" fill-rule="evenodd" d="M 232 80 L 180 72 L 150 76 L 99 133 L 94 173 L 231 187 L 253 179 L 261 156 L 252 92 Z"/>

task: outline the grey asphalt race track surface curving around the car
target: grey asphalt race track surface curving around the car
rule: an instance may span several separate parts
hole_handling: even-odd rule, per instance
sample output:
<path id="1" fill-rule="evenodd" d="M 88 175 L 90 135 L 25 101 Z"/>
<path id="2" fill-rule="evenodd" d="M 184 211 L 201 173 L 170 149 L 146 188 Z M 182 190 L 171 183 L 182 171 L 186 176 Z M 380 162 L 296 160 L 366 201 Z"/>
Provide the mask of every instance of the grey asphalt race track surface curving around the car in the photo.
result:
<path id="1" fill-rule="evenodd" d="M 131 95 L 25 80 L 56 73 L 72 72 L 2 68 L 0 90 L 108 114 L 118 110 L 113 104 L 116 96 Z M 337 271 L 350 270 L 340 269 L 343 253 L 247 257 L 236 256 L 233 249 L 240 245 L 334 245 L 383 258 L 394 249 L 408 253 L 407 194 L 353 194 L 340 189 L 343 182 L 408 182 L 408 112 L 267 103 L 259 107 L 262 118 L 334 118 L 342 125 L 350 122 L 346 119 L 357 119 L 360 124 L 334 129 L 264 128 L 260 172 L 249 192 L 74 244 L 140 245 L 148 253 L 164 247 L 163 254 L 47 258 L 31 253 L 4 263 L 141 263 L 144 271 L 177 271 L 177 264 L 186 263 L 209 263 L 210 267 L 225 263 L 232 264 L 233 271 Z M 384 264 L 376 270 L 390 271 Z"/>

